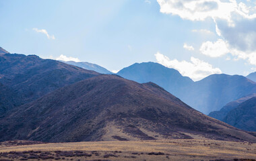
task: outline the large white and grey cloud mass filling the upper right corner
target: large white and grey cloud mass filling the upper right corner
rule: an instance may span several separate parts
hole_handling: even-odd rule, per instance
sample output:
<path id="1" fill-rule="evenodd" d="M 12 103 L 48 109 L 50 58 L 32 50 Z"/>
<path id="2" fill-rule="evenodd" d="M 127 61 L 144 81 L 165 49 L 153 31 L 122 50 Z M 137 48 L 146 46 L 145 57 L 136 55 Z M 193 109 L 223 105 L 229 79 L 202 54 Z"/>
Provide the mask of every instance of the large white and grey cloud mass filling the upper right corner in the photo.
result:
<path id="1" fill-rule="evenodd" d="M 241 0 L 157 0 L 160 12 L 191 21 L 213 19 L 217 42 L 205 42 L 201 52 L 218 57 L 228 52 L 235 58 L 256 65 L 256 3 Z M 192 30 L 192 32 L 198 32 Z M 226 47 L 225 47 L 226 44 Z"/>

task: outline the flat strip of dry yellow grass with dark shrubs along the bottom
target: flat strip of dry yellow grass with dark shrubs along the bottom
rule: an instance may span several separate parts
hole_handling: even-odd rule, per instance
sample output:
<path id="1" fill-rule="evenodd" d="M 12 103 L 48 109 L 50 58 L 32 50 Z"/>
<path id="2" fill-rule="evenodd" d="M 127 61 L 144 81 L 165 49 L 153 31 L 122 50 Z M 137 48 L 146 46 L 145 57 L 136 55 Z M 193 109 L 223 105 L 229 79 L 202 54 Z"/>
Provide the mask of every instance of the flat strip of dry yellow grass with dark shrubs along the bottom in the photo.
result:
<path id="1" fill-rule="evenodd" d="M 0 154 L 0 160 L 256 160 L 256 144 L 218 140 L 1 144 Z"/>

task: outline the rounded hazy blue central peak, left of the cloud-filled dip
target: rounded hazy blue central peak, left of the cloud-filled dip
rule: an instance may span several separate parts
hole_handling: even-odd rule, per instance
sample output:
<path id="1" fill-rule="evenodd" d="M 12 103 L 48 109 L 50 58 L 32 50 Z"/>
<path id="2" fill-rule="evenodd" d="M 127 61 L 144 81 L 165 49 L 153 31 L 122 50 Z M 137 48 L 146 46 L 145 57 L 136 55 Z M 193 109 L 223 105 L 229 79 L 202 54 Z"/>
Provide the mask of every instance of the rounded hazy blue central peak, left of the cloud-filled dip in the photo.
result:
<path id="1" fill-rule="evenodd" d="M 179 98 L 182 98 L 185 88 L 193 84 L 191 78 L 156 62 L 135 63 L 123 68 L 117 74 L 138 83 L 156 83 Z"/>

